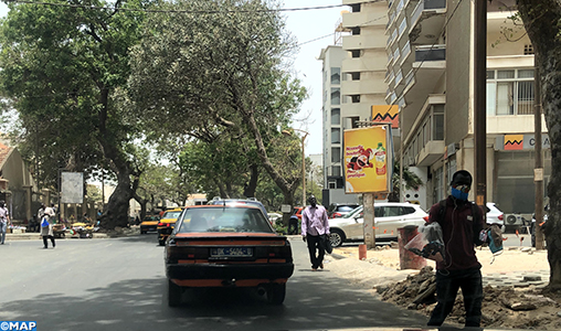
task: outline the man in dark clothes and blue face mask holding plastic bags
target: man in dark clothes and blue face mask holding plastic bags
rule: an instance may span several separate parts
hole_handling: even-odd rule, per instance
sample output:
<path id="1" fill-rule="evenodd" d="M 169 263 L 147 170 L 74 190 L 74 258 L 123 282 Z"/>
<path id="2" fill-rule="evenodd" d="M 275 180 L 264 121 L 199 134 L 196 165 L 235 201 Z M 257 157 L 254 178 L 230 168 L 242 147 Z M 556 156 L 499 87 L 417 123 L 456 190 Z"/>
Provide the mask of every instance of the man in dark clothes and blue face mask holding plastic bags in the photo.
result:
<path id="1" fill-rule="evenodd" d="M 427 325 L 442 325 L 454 307 L 459 288 L 466 310 L 465 327 L 479 328 L 481 321 L 481 265 L 475 255 L 475 246 L 483 244 L 479 234 L 485 221 L 481 209 L 467 200 L 472 182 L 468 171 L 456 171 L 452 177 L 451 195 L 428 212 L 428 223 L 437 222 L 442 227 L 445 258 L 436 263 L 437 305 Z"/>

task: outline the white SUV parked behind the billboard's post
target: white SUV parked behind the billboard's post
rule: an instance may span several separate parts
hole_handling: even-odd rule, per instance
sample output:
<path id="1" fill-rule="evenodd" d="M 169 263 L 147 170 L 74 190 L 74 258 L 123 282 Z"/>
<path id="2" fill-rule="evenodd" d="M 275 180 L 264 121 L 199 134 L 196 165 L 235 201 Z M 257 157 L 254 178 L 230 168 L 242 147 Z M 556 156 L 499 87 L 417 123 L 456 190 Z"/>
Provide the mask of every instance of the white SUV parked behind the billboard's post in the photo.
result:
<path id="1" fill-rule="evenodd" d="M 420 205 L 409 202 L 382 202 L 374 204 L 375 238 L 389 241 L 398 238 L 398 228 L 406 225 L 423 225 L 428 220 Z M 363 206 L 358 206 L 342 217 L 330 218 L 331 246 L 338 247 L 346 242 L 364 239 Z"/>

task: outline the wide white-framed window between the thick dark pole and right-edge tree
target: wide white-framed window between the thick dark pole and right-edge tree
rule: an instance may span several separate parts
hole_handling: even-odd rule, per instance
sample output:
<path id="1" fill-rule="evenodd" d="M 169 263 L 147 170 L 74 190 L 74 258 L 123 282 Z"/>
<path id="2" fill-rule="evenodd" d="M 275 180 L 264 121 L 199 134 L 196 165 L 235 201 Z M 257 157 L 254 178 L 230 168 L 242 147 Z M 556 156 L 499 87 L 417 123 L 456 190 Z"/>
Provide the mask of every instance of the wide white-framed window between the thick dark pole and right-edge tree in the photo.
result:
<path id="1" fill-rule="evenodd" d="M 533 114 L 533 70 L 487 72 L 487 115 Z"/>

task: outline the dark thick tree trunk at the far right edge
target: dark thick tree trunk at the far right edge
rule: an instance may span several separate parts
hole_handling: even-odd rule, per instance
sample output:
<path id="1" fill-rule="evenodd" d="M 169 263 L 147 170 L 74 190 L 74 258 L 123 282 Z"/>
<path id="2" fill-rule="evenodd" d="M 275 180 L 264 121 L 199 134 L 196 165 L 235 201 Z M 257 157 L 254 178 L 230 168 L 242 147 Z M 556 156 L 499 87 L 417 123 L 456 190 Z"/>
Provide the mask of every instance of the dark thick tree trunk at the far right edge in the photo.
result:
<path id="1" fill-rule="evenodd" d="M 549 287 L 561 289 L 561 6 L 555 0 L 518 0 L 541 73 L 542 108 L 551 142 L 550 211 L 544 225 L 550 266 Z M 537 82 L 538 84 L 538 82 Z"/>

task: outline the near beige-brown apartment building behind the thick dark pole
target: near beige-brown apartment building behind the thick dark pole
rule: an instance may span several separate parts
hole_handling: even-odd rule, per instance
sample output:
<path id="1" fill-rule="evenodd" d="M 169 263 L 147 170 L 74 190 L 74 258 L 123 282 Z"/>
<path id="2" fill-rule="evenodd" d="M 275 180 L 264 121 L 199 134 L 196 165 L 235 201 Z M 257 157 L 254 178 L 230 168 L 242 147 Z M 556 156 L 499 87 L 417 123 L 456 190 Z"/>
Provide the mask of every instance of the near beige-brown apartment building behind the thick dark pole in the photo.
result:
<path id="1" fill-rule="evenodd" d="M 400 106 L 402 146 L 396 154 L 424 174 L 422 190 L 431 205 L 448 194 L 457 169 L 474 173 L 474 2 L 388 4 L 385 102 Z M 507 215 L 529 215 L 534 201 L 533 51 L 525 31 L 508 19 L 515 6 L 515 0 L 488 3 L 487 199 Z M 502 33 L 508 29 L 512 36 Z M 546 129 L 542 137 L 547 185 Z"/>

